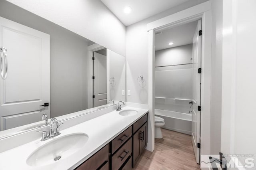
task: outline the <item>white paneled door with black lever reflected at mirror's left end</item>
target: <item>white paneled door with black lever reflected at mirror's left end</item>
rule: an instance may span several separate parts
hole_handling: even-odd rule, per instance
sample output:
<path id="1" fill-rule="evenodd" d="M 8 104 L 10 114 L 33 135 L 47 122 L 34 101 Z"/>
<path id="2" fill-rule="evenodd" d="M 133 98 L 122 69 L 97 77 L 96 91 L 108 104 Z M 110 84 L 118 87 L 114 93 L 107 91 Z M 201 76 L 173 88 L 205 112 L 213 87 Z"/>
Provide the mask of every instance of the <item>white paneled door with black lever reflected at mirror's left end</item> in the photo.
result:
<path id="1" fill-rule="evenodd" d="M 0 47 L 8 61 L 7 78 L 0 78 L 1 130 L 50 117 L 50 35 L 0 17 Z"/>

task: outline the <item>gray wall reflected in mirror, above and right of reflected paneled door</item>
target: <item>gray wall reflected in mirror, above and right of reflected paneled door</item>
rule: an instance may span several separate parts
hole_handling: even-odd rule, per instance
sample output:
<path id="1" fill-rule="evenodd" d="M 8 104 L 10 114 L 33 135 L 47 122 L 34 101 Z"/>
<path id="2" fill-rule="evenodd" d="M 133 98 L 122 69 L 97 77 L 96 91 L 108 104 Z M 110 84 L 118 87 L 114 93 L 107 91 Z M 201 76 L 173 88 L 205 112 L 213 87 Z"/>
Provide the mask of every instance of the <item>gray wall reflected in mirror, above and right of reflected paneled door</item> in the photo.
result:
<path id="1" fill-rule="evenodd" d="M 50 34 L 51 117 L 87 109 L 89 40 L 3 0 L 0 16 Z"/>

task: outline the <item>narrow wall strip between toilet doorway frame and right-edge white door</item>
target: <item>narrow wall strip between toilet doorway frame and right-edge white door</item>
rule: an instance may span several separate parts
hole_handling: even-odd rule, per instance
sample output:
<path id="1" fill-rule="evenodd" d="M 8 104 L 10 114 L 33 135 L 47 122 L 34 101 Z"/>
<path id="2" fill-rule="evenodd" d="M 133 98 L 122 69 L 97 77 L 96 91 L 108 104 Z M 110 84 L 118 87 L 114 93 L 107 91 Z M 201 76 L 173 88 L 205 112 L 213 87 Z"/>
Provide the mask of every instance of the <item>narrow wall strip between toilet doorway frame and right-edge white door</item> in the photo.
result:
<path id="1" fill-rule="evenodd" d="M 220 152 L 222 102 L 222 0 L 212 0 L 212 71 L 210 152 Z"/>

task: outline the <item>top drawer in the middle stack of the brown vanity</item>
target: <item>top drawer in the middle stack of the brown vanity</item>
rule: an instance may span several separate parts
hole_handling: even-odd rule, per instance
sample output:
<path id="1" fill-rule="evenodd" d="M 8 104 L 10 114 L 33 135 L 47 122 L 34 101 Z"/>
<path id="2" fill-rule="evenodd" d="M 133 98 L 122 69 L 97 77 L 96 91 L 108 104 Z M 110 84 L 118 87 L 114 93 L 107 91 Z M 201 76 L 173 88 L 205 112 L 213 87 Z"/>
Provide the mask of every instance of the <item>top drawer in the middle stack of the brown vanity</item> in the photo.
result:
<path id="1" fill-rule="evenodd" d="M 130 126 L 124 132 L 112 140 L 112 154 L 132 136 L 132 127 Z"/>

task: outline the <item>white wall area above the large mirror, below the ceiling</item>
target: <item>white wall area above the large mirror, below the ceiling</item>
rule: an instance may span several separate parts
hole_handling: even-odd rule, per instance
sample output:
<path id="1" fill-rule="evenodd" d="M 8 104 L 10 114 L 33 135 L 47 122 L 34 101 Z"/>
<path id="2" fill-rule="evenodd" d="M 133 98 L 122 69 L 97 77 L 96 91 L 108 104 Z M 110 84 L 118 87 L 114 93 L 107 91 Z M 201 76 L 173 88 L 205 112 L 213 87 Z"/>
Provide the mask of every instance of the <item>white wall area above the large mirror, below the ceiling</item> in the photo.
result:
<path id="1" fill-rule="evenodd" d="M 126 28 L 100 0 L 7 0 L 125 56 Z"/>

